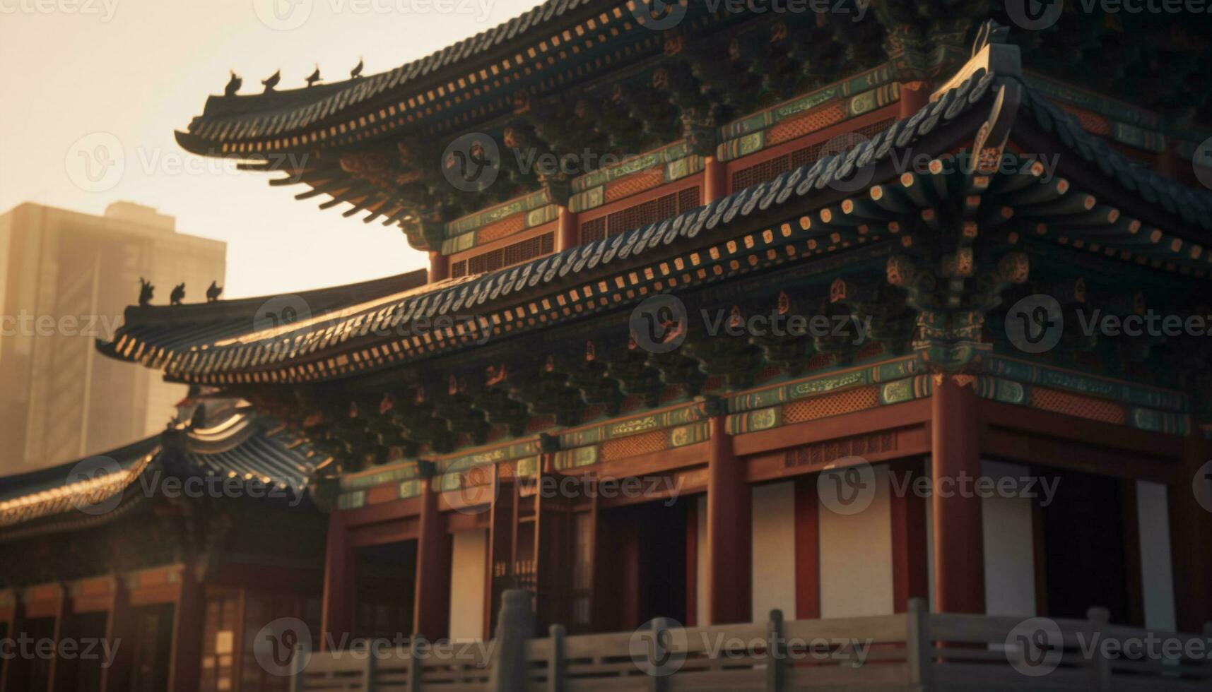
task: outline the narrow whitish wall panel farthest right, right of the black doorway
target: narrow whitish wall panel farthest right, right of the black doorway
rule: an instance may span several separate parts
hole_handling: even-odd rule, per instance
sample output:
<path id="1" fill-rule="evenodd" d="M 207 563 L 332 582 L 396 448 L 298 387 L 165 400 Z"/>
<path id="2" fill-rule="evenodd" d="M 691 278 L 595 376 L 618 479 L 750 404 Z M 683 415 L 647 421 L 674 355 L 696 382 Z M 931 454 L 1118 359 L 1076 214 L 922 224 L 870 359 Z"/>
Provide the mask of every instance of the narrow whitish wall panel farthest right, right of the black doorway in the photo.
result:
<path id="1" fill-rule="evenodd" d="M 1144 625 L 1154 631 L 1174 631 L 1174 572 L 1165 485 L 1137 481 L 1137 525 L 1140 530 Z"/>

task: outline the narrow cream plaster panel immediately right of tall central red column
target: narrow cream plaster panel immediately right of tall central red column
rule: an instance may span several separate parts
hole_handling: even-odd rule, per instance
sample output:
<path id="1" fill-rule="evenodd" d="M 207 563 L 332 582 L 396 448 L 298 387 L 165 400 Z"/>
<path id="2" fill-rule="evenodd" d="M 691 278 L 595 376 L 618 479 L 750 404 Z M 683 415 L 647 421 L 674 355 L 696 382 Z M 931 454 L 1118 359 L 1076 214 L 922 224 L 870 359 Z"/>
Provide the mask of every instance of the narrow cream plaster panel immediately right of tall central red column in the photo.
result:
<path id="1" fill-rule="evenodd" d="M 795 484 L 753 488 L 753 619 L 795 619 Z"/>

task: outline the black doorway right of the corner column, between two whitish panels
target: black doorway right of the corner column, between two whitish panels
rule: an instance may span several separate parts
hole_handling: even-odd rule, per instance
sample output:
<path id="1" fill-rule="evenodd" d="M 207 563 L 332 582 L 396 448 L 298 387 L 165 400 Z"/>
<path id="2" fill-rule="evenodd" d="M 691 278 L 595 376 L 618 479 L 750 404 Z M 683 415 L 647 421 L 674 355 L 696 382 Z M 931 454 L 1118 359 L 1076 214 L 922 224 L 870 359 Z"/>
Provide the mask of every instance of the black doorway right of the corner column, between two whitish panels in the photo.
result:
<path id="1" fill-rule="evenodd" d="M 1122 481 L 1050 475 L 1058 482 L 1052 504 L 1041 508 L 1047 616 L 1085 619 L 1087 608 L 1103 606 L 1111 622 L 1130 622 Z"/>

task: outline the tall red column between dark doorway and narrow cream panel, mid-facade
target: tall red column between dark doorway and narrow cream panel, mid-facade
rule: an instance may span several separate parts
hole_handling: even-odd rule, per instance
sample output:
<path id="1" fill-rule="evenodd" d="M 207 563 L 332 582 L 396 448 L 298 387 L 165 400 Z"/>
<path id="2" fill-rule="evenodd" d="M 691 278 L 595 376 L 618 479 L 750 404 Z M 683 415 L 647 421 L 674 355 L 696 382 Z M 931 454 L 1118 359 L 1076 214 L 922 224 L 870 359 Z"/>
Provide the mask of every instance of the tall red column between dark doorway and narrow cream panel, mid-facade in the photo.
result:
<path id="1" fill-rule="evenodd" d="M 710 623 L 749 622 L 753 514 L 744 465 L 732 451 L 725 416 L 711 416 L 707 462 L 708 612 Z"/>

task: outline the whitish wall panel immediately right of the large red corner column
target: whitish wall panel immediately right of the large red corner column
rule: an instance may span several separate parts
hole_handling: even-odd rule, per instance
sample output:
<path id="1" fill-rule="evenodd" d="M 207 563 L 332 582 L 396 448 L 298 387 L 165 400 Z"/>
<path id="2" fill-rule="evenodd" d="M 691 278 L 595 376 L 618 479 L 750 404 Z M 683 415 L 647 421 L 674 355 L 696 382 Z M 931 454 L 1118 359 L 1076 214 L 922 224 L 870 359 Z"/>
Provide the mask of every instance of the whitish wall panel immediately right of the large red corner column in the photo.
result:
<path id="1" fill-rule="evenodd" d="M 1030 476 L 1027 467 L 982 462 L 991 479 Z M 1023 484 L 1014 487 L 1024 488 Z M 1037 490 L 1037 486 L 1031 486 Z M 985 612 L 1035 616 L 1035 545 L 1029 497 L 985 497 L 981 501 L 984 537 Z"/>

